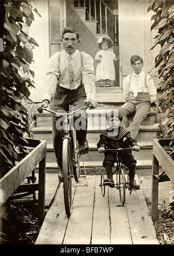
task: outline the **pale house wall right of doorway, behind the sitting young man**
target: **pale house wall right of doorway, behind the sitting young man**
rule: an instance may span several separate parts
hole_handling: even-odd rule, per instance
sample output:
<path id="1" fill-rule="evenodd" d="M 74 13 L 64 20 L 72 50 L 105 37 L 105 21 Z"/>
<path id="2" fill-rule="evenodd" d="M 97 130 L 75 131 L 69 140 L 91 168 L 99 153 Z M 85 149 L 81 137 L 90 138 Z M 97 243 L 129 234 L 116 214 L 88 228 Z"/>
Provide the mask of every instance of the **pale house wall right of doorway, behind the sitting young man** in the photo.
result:
<path id="1" fill-rule="evenodd" d="M 154 67 L 154 59 L 159 49 L 155 48 L 150 51 L 154 45 L 155 33 L 150 32 L 153 12 L 147 12 L 148 6 L 150 6 L 150 1 L 118 1 L 121 87 L 125 76 L 132 72 L 130 64 L 132 55 L 143 57 L 145 72 L 149 72 Z"/>

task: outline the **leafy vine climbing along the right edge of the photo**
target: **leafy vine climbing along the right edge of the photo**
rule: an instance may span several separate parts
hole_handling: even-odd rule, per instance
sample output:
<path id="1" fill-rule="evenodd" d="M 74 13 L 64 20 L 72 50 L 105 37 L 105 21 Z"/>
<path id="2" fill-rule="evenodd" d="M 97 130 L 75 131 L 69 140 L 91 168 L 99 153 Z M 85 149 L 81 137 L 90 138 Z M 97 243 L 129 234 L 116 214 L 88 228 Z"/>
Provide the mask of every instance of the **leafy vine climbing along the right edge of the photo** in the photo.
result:
<path id="1" fill-rule="evenodd" d="M 155 57 L 155 68 L 158 70 L 158 77 L 161 78 L 160 89 L 162 95 L 158 100 L 158 113 L 161 113 L 161 128 L 166 127 L 165 138 L 173 138 L 174 134 L 174 5 L 173 0 L 155 0 L 148 8 L 153 10 L 151 17 L 152 30 L 157 30 L 155 44 L 161 47 L 160 53 Z M 164 108 L 164 105 L 167 107 Z M 171 142 L 172 146 L 173 142 Z"/>

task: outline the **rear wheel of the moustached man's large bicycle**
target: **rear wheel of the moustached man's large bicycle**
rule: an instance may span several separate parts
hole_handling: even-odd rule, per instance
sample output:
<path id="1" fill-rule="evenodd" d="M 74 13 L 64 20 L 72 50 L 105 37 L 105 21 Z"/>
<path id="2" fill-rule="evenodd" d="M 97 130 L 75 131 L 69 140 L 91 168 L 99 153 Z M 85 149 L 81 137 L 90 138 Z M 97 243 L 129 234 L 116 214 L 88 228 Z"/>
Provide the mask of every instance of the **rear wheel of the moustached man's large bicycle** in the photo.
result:
<path id="1" fill-rule="evenodd" d="M 73 154 L 73 173 L 74 173 L 74 179 L 76 182 L 79 182 L 79 178 L 81 176 L 81 165 L 80 165 L 80 154 L 78 153 L 79 147 L 78 147 L 78 141 L 76 139 L 76 131 L 73 128 L 71 131 L 71 141 L 72 141 L 72 154 Z"/>

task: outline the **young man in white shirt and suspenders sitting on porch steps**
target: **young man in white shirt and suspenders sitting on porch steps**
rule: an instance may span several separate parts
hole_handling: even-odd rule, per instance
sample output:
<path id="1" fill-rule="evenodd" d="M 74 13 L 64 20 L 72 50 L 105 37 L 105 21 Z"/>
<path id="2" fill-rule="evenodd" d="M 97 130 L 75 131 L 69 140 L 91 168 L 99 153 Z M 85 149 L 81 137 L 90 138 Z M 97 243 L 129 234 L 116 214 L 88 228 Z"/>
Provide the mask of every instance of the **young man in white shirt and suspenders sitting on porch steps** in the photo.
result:
<path id="1" fill-rule="evenodd" d="M 133 139 L 136 138 L 141 122 L 150 113 L 151 107 L 155 109 L 157 88 L 150 75 L 142 71 L 143 59 L 138 55 L 131 57 L 133 73 L 124 79 L 123 92 L 126 95 L 126 103 L 120 107 L 118 113 L 122 115 L 122 126 L 131 132 Z M 133 121 L 129 125 L 128 116 L 135 113 Z"/>

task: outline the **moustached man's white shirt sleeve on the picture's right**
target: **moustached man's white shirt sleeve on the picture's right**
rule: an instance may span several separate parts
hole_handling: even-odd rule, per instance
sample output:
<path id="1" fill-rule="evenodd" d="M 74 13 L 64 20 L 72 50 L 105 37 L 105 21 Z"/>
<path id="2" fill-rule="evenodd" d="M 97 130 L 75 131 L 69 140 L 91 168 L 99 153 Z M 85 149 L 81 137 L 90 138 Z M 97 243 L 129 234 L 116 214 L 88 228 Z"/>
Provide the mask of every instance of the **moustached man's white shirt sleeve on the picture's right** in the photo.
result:
<path id="1" fill-rule="evenodd" d="M 95 85 L 95 70 L 93 59 L 87 53 L 83 52 L 83 67 L 82 67 L 82 82 L 84 83 L 86 99 L 95 100 L 96 85 Z"/>

